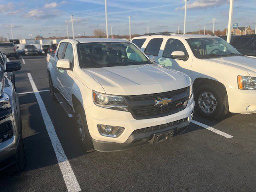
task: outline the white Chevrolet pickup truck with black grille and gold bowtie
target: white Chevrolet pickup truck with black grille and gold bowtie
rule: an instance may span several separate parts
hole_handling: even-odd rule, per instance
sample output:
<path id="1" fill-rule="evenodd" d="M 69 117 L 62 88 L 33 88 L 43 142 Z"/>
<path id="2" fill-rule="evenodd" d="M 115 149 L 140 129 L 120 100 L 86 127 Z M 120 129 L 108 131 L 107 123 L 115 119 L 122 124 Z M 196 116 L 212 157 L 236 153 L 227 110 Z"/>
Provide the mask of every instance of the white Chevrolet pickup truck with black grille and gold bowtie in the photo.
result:
<path id="1" fill-rule="evenodd" d="M 62 40 L 47 70 L 52 98 L 75 116 L 86 152 L 165 141 L 193 116 L 189 76 L 154 64 L 126 40 Z"/>

